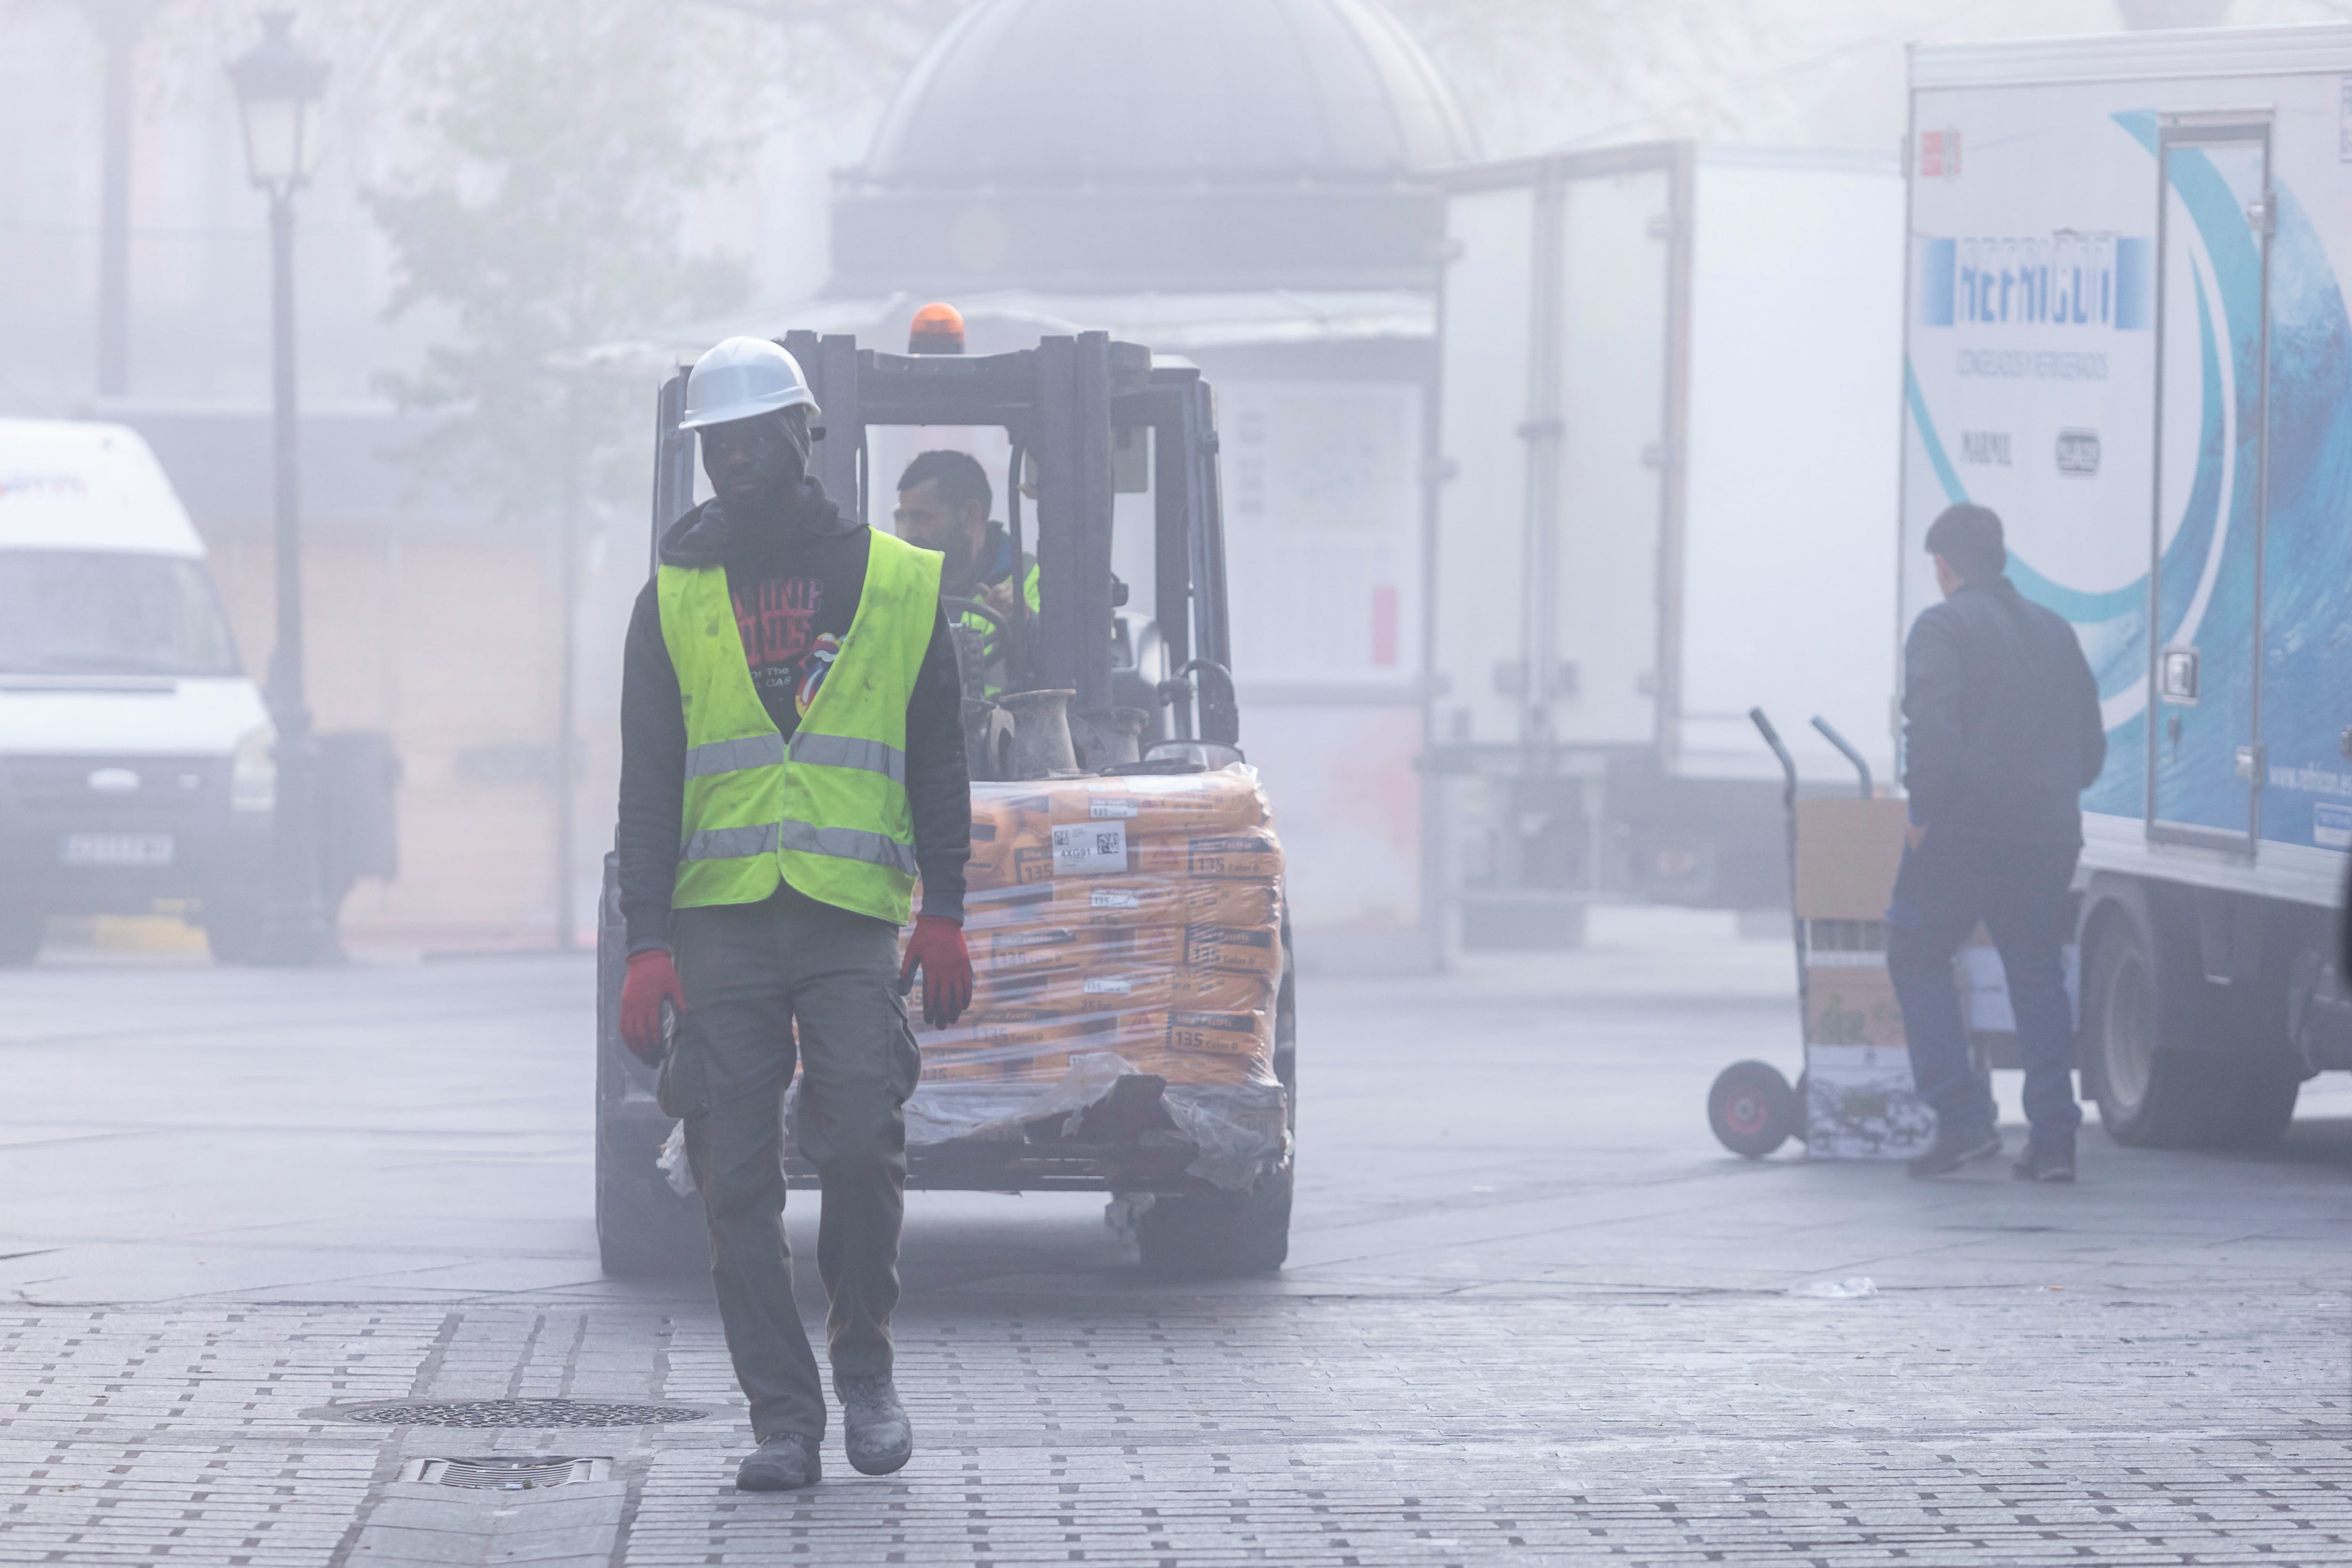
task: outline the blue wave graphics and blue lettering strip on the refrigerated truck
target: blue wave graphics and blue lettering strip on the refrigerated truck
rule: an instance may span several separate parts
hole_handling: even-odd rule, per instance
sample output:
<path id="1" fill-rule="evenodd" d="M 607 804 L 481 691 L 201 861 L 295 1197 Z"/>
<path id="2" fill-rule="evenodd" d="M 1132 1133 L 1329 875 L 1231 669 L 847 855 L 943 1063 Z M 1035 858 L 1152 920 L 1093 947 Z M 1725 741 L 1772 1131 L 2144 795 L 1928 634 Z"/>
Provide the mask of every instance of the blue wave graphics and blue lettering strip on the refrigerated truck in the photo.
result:
<path id="1" fill-rule="evenodd" d="M 2154 113 L 2124 113 L 2114 122 L 2152 158 L 2159 155 Z M 2244 663 L 2253 639 L 2249 588 L 2265 463 L 2263 252 L 2244 205 L 2201 150 L 2171 150 L 2171 190 L 2201 249 L 2185 280 L 2194 301 L 2199 407 L 2194 473 L 2178 496 L 2178 527 L 2161 555 L 2157 625 L 2166 644 L 2194 642 L 2206 646 L 2211 661 Z M 2338 823 L 2317 820 L 2321 813 L 2310 802 L 2352 797 L 2352 773 L 2333 766 L 2336 733 L 2352 717 L 2345 590 L 2352 583 L 2352 529 L 2343 517 L 2352 489 L 2352 320 L 2319 233 L 2293 190 L 2274 179 L 2270 200 L 2277 228 L 2270 242 L 2270 567 L 2263 583 L 2260 715 L 2270 773 L 2260 783 L 2274 797 L 2300 792 L 2305 799 L 2265 799 L 2265 837 L 2328 844 Z M 2103 256 L 2100 242 L 2112 244 L 2112 254 Z M 1922 252 L 1924 327 L 2129 331 L 2152 324 L 2152 247 L 2129 235 L 1922 240 Z M 2098 310 L 2100 287 L 2112 301 L 2105 317 Z M 1905 404 L 1938 487 L 1950 501 L 1966 501 L 1910 364 Z M 2190 430 L 2178 430 L 2176 440 L 2180 435 Z M 2009 574 L 2030 599 L 2074 623 L 2098 672 L 2112 748 L 2107 771 L 2084 806 L 2138 818 L 2147 806 L 2147 574 L 2105 592 L 2067 588 L 2018 555 L 2011 555 Z M 2234 729 L 2246 733 L 2251 724 Z M 2244 820 L 2244 785 L 2227 757 L 2227 731 L 2201 724 L 2187 750 L 2166 748 L 2166 795 L 2190 820 Z M 2169 809 L 2166 816 L 2183 811 Z"/>

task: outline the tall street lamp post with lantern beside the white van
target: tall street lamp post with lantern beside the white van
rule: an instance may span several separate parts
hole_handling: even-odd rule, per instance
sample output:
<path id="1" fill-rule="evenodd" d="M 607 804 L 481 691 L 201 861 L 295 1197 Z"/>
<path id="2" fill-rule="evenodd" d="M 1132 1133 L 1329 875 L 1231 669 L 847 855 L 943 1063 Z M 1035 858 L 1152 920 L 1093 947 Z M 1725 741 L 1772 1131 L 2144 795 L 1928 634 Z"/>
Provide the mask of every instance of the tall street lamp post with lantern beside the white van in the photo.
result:
<path id="1" fill-rule="evenodd" d="M 278 649 L 268 698 L 278 726 L 278 806 L 270 820 L 270 900 L 261 957 L 318 964 L 336 954 L 320 870 L 318 736 L 301 679 L 301 496 L 294 430 L 294 193 L 308 183 L 318 132 L 310 103 L 325 61 L 292 38 L 294 12 L 263 12 L 261 42 L 228 63 L 245 120 L 245 167 L 270 197 L 270 386 L 278 468 Z"/>

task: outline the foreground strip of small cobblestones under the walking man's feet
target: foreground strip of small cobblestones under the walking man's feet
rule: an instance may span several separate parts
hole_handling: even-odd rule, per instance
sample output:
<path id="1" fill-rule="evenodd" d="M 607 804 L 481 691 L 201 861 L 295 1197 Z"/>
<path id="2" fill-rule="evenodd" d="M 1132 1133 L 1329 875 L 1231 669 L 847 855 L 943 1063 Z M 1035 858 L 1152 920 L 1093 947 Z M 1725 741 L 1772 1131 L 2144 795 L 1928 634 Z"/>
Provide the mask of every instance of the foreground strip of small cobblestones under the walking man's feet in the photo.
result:
<path id="1" fill-rule="evenodd" d="M 555 1561 L 2352 1561 L 2333 1293 L 1021 1302 L 901 1345 L 915 1465 L 863 1479 L 835 1448 L 821 1488 L 753 1497 L 701 1312 L 12 1314 L 0 1561 L 390 1561 L 386 1509 L 426 1488 L 388 1481 L 447 1453 L 614 1458 L 621 1507 Z M 407 1394 L 713 1415 L 318 1420 Z"/>

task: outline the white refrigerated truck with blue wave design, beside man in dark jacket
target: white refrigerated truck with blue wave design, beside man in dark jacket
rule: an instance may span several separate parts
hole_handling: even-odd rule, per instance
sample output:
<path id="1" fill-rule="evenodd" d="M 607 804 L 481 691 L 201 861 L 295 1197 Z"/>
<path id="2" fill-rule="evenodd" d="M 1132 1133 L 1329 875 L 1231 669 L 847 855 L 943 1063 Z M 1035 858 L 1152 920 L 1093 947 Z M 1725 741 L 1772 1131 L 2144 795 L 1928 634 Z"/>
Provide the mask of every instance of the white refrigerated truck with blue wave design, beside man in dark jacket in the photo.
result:
<path id="1" fill-rule="evenodd" d="M 2260 1143 L 2352 1067 L 2352 28 L 1922 47 L 1903 625 L 1994 508 L 2074 623 L 2082 1067 L 2124 1143 Z"/>

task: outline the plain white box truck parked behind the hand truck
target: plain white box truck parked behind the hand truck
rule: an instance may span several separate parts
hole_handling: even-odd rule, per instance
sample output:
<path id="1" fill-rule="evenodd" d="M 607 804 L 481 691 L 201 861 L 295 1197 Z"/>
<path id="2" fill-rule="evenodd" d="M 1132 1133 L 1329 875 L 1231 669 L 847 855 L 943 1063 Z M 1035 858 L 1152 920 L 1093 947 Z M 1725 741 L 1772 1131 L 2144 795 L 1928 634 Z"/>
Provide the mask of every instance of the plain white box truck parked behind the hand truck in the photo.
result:
<path id="1" fill-rule="evenodd" d="M 1425 769 L 1472 947 L 1788 907 L 1764 708 L 1891 771 L 1903 181 L 1686 141 L 1449 181 Z"/>

